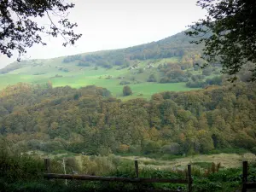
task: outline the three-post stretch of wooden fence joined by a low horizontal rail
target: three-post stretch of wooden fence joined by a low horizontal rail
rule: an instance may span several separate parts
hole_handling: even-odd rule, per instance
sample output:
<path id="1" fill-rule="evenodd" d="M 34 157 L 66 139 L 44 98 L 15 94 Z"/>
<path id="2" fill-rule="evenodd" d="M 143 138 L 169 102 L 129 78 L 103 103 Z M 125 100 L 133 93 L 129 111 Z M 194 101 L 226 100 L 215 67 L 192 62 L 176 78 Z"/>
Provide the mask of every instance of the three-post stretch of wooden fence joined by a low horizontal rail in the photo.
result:
<path id="1" fill-rule="evenodd" d="M 102 176 L 90 176 L 90 175 L 76 175 L 76 174 L 56 174 L 50 173 L 50 163 L 49 159 L 44 160 L 45 172 L 44 178 L 52 179 L 76 179 L 76 180 L 86 180 L 86 181 L 107 181 L 107 182 L 123 182 L 123 183 L 187 183 L 188 191 L 192 192 L 192 177 L 191 177 L 191 166 L 188 165 L 188 174 L 186 179 L 169 179 L 169 178 L 143 178 L 139 177 L 138 163 L 137 160 L 134 161 L 136 178 L 131 177 L 102 177 Z M 150 189 L 149 189 L 150 190 Z M 159 191 L 158 189 L 151 189 L 150 191 Z M 164 191 L 164 190 L 162 190 Z M 165 190 L 167 191 L 167 190 Z M 175 192 L 168 190 L 168 192 Z"/>

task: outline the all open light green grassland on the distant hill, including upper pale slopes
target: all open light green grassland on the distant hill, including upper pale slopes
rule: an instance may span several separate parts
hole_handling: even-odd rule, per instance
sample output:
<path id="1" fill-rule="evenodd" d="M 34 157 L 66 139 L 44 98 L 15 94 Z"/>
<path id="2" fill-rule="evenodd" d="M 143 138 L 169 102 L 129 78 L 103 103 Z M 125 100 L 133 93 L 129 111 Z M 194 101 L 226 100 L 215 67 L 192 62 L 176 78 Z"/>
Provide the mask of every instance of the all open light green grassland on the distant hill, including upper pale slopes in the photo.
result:
<path id="1" fill-rule="evenodd" d="M 122 100 L 138 97 L 149 99 L 154 93 L 162 91 L 193 90 L 186 87 L 185 83 L 157 84 L 147 82 L 148 76 L 151 73 L 154 73 L 157 79 L 160 79 L 160 73 L 155 69 L 160 63 L 172 61 L 176 62 L 178 58 L 137 62 L 138 67 L 146 67 L 149 62 L 154 66 L 154 68 L 146 69 L 140 74 L 129 70 L 129 68 L 118 70 L 118 67 L 111 69 L 98 67 L 95 70 L 94 67 L 79 67 L 75 62 L 61 63 L 61 58 L 29 61 L 20 69 L 0 74 L 0 89 L 9 84 L 17 84 L 19 82 L 46 84 L 48 81 L 51 81 L 54 87 L 69 85 L 73 88 L 95 84 L 96 86 L 107 88 L 113 96 Z M 60 67 L 66 68 L 68 72 L 60 71 Z M 122 79 L 119 77 L 122 77 Z M 131 83 L 129 86 L 133 92 L 132 96 L 122 96 L 124 85 L 119 84 L 122 80 Z"/>

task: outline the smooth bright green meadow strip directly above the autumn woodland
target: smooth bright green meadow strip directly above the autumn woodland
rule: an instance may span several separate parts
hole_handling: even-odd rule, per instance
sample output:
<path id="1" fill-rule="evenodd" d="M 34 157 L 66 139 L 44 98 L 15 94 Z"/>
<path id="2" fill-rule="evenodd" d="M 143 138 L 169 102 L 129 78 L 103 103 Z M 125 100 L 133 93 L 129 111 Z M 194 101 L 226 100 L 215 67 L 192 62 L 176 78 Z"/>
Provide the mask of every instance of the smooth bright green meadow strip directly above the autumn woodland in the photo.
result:
<path id="1" fill-rule="evenodd" d="M 98 79 L 97 76 L 68 76 L 63 78 L 47 78 L 47 77 L 33 77 L 32 75 L 0 75 L 0 89 L 4 87 L 17 84 L 19 82 L 26 82 L 32 84 L 46 84 L 51 81 L 54 87 L 69 85 L 73 88 L 79 88 L 87 85 L 95 84 L 96 86 L 107 88 L 111 91 L 113 96 L 119 97 L 123 100 L 128 100 L 131 98 L 150 98 L 154 93 L 162 91 L 186 91 L 186 90 L 196 90 L 193 88 L 186 87 L 185 83 L 175 83 L 175 84 L 157 84 L 143 82 L 140 84 L 129 84 L 133 92 L 132 96 L 122 96 L 123 85 L 119 84 L 118 79 Z"/>

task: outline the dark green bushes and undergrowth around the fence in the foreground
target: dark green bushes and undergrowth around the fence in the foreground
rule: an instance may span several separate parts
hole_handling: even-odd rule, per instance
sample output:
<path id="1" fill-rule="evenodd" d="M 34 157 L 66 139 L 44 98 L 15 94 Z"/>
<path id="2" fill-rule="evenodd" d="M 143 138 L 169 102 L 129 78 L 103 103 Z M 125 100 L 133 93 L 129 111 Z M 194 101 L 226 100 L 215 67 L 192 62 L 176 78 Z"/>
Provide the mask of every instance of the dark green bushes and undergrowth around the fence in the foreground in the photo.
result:
<path id="1" fill-rule="evenodd" d="M 43 178 L 44 160 L 33 154 L 27 155 L 9 151 L 9 146 L 1 140 L 0 154 L 0 189 L 1 191 L 143 191 L 143 189 L 183 189 L 184 184 L 154 183 L 127 184 L 106 182 L 82 182 L 68 180 L 47 180 Z M 124 160 L 119 156 L 86 156 L 58 157 L 51 159 L 51 172 L 64 173 L 62 160 L 65 159 L 66 172 L 79 174 L 136 177 L 133 161 Z M 141 162 L 141 161 L 139 161 Z M 249 163 L 249 181 L 255 181 L 256 165 Z M 186 171 L 174 167 L 155 169 L 150 166 L 139 166 L 140 177 L 154 178 L 185 178 Z M 198 162 L 192 164 L 193 191 L 230 192 L 241 188 L 241 167 L 222 168 L 219 163 Z"/>

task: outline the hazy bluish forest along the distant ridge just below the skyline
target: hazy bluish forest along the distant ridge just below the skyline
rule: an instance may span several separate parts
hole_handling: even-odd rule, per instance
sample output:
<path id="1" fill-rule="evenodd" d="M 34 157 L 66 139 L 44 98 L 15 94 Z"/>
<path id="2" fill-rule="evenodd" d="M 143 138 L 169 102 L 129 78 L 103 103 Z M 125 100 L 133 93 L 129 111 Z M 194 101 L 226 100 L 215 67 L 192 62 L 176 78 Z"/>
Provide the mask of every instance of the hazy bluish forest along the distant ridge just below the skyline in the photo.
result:
<path id="1" fill-rule="evenodd" d="M 181 69 L 193 66 L 195 63 L 203 63 L 201 59 L 201 45 L 189 44 L 189 38 L 183 32 L 178 33 L 170 38 L 165 38 L 158 42 L 143 44 L 126 49 L 117 49 L 103 51 L 90 55 L 70 55 L 63 59 L 62 62 L 68 63 L 78 61 L 78 66 L 89 67 L 99 66 L 112 68 L 119 66 L 119 69 L 132 66 L 133 61 L 143 61 L 151 59 L 162 59 L 177 57 L 181 61 Z"/>

